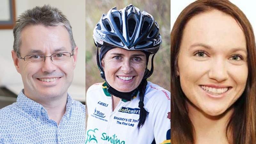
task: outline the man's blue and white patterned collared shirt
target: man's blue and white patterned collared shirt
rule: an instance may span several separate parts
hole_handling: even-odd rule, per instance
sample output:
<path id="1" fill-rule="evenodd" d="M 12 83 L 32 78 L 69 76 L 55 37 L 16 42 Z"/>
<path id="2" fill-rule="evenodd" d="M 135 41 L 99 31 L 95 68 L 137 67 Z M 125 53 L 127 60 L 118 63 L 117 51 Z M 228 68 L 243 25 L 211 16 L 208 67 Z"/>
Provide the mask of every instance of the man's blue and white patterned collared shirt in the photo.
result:
<path id="1" fill-rule="evenodd" d="M 0 109 L 0 144 L 85 143 L 85 106 L 68 93 L 66 113 L 58 125 L 42 105 L 21 91 L 17 102 Z"/>

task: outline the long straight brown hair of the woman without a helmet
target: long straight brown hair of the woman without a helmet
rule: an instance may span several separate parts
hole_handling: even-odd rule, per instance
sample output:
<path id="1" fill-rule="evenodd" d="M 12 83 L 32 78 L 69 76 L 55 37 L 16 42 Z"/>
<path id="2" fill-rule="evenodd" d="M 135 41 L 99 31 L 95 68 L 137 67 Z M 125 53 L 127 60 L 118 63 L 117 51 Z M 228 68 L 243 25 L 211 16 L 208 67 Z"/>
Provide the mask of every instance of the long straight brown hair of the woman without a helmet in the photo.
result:
<path id="1" fill-rule="evenodd" d="M 242 28 L 248 52 L 248 78 L 241 97 L 233 104 L 232 114 L 226 135 L 229 143 L 256 143 L 256 47 L 252 26 L 244 13 L 228 0 L 198 0 L 189 4 L 179 15 L 171 32 L 171 140 L 172 144 L 195 143 L 195 132 L 186 108 L 186 96 L 181 90 L 177 76 L 177 58 L 183 29 L 195 15 L 219 10 L 232 16 Z M 231 135 L 230 133 L 231 132 Z"/>

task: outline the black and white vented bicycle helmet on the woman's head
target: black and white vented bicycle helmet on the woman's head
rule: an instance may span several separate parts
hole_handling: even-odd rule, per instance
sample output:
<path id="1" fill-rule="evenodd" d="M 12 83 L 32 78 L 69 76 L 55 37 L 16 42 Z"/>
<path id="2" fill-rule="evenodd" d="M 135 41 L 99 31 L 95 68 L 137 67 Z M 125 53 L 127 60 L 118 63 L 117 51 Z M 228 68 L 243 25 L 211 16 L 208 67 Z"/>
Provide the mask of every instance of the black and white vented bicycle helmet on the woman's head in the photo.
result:
<path id="1" fill-rule="evenodd" d="M 103 14 L 93 30 L 96 46 L 109 45 L 126 50 L 139 50 L 155 54 L 162 43 L 159 26 L 148 12 L 133 5 Z"/>

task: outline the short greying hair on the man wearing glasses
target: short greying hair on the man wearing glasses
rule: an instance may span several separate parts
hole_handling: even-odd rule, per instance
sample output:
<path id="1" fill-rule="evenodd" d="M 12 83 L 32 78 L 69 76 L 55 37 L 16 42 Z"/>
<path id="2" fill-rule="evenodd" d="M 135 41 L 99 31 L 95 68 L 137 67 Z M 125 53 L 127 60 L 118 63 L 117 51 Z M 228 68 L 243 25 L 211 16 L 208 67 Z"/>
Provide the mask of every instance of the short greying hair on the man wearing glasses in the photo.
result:
<path id="1" fill-rule="evenodd" d="M 42 7 L 36 6 L 33 9 L 28 9 L 17 18 L 13 28 L 13 50 L 17 52 L 17 56 L 20 53 L 21 31 L 26 26 L 31 25 L 65 26 L 68 30 L 72 52 L 74 51 L 76 44 L 72 34 L 72 27 L 67 17 L 58 8 L 44 5 Z"/>

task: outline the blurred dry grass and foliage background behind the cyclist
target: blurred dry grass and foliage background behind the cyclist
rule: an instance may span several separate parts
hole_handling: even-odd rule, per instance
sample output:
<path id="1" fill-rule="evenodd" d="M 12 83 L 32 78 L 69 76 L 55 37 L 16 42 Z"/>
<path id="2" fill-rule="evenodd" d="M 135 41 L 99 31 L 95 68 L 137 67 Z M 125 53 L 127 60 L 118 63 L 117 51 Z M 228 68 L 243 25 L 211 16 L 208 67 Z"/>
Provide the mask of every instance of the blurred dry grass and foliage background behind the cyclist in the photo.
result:
<path id="1" fill-rule="evenodd" d="M 97 47 L 93 43 L 93 28 L 103 13 L 107 13 L 113 7 L 117 7 L 117 10 L 123 9 L 129 4 L 150 13 L 160 27 L 163 42 L 154 58 L 154 73 L 148 80 L 170 91 L 170 3 L 170 0 L 86 0 L 86 91 L 92 84 L 104 81 L 100 78 L 100 71 L 96 63 Z M 148 68 L 150 69 L 150 63 Z"/>

